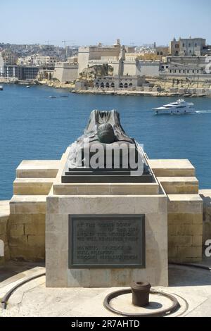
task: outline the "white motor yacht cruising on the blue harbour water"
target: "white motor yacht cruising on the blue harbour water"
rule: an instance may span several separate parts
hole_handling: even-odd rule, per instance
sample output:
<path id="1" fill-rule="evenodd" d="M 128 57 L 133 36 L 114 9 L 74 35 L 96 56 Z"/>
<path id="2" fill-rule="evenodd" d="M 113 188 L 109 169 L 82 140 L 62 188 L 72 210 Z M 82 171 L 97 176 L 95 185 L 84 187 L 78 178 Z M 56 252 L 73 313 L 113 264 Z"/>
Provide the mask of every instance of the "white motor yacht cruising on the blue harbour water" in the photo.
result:
<path id="1" fill-rule="evenodd" d="M 184 99 L 179 99 L 176 102 L 171 102 L 170 104 L 164 105 L 162 107 L 153 108 L 155 115 L 159 114 L 188 114 L 196 113 L 193 103 L 188 103 Z"/>

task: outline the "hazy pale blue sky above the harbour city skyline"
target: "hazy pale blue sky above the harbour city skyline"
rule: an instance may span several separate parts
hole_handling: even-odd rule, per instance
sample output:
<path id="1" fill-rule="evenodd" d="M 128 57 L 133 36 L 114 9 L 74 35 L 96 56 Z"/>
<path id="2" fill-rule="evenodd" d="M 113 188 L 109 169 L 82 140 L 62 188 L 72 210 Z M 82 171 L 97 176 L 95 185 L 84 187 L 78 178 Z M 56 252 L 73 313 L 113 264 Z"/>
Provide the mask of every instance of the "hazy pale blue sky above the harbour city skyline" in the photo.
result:
<path id="1" fill-rule="evenodd" d="M 210 0 L 0 0 L 0 42 L 16 44 L 168 44 L 205 37 Z"/>

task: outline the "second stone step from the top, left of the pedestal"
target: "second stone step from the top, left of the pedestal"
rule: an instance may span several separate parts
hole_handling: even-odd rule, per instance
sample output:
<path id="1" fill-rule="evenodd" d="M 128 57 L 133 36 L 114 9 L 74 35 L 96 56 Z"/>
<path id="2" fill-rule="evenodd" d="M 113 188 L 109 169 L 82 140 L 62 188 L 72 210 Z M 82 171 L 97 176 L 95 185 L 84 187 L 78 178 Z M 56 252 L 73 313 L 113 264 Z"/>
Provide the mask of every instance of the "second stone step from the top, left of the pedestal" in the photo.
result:
<path id="1" fill-rule="evenodd" d="M 47 195 L 54 178 L 16 178 L 13 182 L 15 195 Z"/>

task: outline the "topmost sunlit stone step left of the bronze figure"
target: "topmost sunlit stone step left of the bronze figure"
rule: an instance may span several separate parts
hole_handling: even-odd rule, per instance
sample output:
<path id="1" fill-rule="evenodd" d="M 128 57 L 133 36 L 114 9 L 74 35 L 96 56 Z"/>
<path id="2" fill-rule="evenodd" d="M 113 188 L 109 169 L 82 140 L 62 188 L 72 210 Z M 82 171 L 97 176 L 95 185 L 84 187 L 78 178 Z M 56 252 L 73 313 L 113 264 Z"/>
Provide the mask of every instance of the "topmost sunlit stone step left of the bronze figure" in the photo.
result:
<path id="1" fill-rule="evenodd" d="M 18 178 L 55 178 L 60 160 L 25 160 L 16 170 Z"/>

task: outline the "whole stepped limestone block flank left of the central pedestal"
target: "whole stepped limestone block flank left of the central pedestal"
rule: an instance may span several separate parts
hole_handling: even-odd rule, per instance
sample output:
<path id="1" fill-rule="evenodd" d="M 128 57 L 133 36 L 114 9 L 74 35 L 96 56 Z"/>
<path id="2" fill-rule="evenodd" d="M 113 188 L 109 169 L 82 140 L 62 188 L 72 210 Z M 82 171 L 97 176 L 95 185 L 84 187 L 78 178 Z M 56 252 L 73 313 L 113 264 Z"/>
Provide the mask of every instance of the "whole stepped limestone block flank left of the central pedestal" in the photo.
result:
<path id="1" fill-rule="evenodd" d="M 46 196 L 55 179 L 60 161 L 23 161 L 13 183 L 8 220 L 11 259 L 44 261 Z"/>

